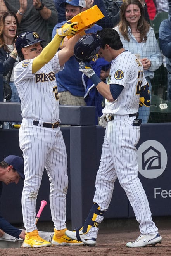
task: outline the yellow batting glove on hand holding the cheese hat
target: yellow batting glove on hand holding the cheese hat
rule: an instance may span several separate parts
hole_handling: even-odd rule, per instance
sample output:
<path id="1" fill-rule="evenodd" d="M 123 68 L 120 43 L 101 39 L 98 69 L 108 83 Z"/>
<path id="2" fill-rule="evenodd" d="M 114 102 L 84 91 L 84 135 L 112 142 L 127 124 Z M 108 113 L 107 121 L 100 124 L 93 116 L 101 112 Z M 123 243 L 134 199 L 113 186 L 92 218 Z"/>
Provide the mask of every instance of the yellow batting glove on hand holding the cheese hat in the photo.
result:
<path id="1" fill-rule="evenodd" d="M 78 33 L 76 28 L 73 28 L 74 25 L 78 24 L 78 22 L 70 23 L 67 21 L 62 28 L 57 29 L 56 33 L 59 36 L 74 36 Z"/>

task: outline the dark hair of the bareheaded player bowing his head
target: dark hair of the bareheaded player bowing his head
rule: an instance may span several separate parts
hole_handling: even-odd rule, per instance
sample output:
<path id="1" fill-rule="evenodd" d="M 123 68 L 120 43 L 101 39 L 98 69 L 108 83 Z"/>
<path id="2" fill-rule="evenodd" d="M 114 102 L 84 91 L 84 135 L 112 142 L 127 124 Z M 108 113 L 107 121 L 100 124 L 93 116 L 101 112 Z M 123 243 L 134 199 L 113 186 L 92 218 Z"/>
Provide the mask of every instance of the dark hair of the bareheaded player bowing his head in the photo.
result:
<path id="1" fill-rule="evenodd" d="M 102 39 L 102 49 L 105 48 L 105 45 L 109 45 L 114 50 L 123 48 L 120 36 L 113 28 L 104 28 L 102 30 L 98 30 L 97 34 Z"/>

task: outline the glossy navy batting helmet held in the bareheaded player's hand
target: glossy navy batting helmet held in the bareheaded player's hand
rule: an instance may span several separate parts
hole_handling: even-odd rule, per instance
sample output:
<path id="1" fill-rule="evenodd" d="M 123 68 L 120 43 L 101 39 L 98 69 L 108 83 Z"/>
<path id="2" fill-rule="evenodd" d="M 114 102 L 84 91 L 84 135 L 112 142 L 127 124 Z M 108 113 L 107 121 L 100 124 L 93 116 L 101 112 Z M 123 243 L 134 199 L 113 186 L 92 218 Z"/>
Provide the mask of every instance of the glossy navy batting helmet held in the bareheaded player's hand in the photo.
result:
<path id="1" fill-rule="evenodd" d="M 77 61 L 90 62 L 98 53 L 102 46 L 102 40 L 96 33 L 89 33 L 76 42 L 74 47 L 74 56 Z"/>

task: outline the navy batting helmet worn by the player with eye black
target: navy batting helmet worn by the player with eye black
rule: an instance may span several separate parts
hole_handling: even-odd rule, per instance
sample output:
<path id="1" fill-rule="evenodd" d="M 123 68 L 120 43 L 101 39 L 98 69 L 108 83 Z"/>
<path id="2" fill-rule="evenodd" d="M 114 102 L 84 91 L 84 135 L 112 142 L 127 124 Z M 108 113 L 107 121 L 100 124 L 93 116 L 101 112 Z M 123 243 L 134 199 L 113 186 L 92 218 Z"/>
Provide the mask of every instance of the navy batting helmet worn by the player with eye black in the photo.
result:
<path id="1" fill-rule="evenodd" d="M 18 55 L 21 54 L 21 49 L 26 46 L 34 45 L 35 43 L 44 42 L 38 33 L 31 31 L 31 32 L 24 32 L 17 37 L 16 40 L 16 50 Z"/>

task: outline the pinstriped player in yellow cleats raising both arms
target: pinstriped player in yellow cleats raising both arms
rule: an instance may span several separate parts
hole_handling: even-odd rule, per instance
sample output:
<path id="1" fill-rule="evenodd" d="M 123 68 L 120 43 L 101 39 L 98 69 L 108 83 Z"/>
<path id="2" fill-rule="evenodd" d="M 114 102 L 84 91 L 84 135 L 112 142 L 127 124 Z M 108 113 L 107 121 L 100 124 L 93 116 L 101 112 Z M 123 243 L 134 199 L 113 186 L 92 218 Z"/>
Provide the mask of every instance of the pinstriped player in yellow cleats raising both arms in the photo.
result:
<path id="1" fill-rule="evenodd" d="M 67 156 L 59 127 L 59 99 L 55 73 L 73 55 L 74 44 L 80 35 L 72 24 L 64 24 L 53 40 L 42 50 L 43 40 L 32 31 L 16 40 L 16 49 L 22 59 L 14 71 L 14 80 L 21 98 L 22 124 L 19 129 L 20 148 L 24 158 L 24 188 L 22 213 L 25 240 L 22 247 L 47 247 L 51 243 L 38 235 L 35 224 L 36 199 L 44 168 L 50 180 L 50 209 L 54 222 L 52 246 L 80 244 L 65 235 L 66 192 L 68 186 Z M 69 45 L 57 52 L 64 36 Z M 83 242 L 81 242 L 83 244 Z"/>

